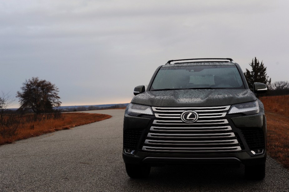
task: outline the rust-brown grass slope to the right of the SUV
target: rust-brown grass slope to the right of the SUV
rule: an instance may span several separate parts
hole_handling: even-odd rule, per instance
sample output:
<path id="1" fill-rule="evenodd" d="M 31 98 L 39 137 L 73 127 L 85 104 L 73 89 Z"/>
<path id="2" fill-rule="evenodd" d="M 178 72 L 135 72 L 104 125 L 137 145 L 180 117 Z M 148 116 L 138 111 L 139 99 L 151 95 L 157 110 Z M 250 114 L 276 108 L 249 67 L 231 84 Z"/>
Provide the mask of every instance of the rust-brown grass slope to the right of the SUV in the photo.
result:
<path id="1" fill-rule="evenodd" d="M 267 118 L 269 155 L 289 169 L 289 95 L 260 97 Z"/>

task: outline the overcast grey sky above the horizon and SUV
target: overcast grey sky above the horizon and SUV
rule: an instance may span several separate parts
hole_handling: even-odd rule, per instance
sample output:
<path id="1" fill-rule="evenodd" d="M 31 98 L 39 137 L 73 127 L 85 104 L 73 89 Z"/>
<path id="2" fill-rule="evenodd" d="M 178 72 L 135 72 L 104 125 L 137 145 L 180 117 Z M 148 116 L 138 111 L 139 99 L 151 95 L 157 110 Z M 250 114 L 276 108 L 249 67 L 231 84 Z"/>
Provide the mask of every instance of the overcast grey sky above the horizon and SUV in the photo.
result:
<path id="1" fill-rule="evenodd" d="M 171 59 L 263 60 L 289 80 L 289 1 L 0 1 L 0 91 L 56 84 L 62 106 L 127 103 Z M 18 107 L 18 100 L 12 107 Z"/>

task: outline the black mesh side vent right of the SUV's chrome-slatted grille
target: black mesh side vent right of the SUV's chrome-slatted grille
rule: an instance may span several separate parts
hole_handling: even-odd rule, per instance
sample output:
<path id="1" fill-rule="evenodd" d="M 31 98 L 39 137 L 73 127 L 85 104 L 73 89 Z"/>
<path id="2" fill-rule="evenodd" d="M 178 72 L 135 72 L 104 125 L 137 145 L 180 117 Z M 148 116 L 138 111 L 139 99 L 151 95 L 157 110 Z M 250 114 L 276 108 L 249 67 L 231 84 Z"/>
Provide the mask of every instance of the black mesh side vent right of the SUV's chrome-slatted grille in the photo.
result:
<path id="1" fill-rule="evenodd" d="M 262 129 L 242 128 L 240 130 L 250 150 L 265 149 L 265 139 Z"/>

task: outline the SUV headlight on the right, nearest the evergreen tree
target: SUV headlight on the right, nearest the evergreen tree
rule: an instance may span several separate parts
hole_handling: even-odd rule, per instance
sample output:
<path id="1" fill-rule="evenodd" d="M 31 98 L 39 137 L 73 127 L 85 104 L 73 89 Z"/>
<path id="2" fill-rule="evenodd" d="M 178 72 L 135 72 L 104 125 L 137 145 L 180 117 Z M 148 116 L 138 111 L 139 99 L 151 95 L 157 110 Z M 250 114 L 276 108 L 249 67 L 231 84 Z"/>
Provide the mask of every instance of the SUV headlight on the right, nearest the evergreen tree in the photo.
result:
<path id="1" fill-rule="evenodd" d="M 244 113 L 246 115 L 259 113 L 258 101 L 256 100 L 253 102 L 232 105 L 228 111 L 228 114 L 233 114 L 233 113 Z"/>

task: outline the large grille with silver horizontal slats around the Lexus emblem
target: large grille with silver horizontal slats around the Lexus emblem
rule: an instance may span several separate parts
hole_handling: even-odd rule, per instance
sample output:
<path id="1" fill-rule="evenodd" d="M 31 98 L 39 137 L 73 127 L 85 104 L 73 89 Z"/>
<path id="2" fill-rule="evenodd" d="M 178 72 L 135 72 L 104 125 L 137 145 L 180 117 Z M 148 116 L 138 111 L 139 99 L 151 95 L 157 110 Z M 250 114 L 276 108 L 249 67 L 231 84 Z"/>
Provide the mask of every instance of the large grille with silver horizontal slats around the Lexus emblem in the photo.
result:
<path id="1" fill-rule="evenodd" d="M 230 106 L 152 107 L 156 120 L 143 143 L 146 152 L 206 153 L 234 152 L 241 147 L 226 116 Z M 198 121 L 184 123 L 181 114 L 193 110 Z"/>

